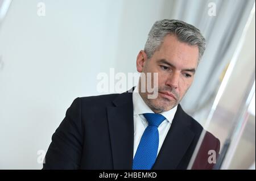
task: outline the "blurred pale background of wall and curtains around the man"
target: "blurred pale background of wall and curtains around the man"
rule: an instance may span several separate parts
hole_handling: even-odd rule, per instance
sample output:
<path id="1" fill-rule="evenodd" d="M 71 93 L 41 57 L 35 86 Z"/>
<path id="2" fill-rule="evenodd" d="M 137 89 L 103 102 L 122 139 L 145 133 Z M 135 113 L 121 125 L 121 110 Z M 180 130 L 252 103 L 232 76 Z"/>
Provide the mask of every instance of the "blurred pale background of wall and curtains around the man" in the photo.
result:
<path id="1" fill-rule="evenodd" d="M 97 76 L 110 68 L 136 73 L 159 19 L 207 39 L 181 106 L 220 139 L 217 169 L 255 169 L 253 0 L 0 0 L 0 169 L 42 169 L 72 101 L 102 94 Z"/>

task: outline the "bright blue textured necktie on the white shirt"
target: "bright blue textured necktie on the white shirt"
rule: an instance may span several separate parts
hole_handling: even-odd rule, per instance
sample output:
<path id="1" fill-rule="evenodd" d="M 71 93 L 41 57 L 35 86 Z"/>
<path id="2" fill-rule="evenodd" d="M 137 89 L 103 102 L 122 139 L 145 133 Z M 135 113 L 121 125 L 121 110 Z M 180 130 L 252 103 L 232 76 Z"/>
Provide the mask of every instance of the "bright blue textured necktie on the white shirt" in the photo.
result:
<path id="1" fill-rule="evenodd" d="M 159 145 L 159 125 L 166 119 L 157 113 L 144 113 L 148 127 L 142 134 L 141 141 L 133 159 L 133 170 L 150 170 L 155 163 Z"/>

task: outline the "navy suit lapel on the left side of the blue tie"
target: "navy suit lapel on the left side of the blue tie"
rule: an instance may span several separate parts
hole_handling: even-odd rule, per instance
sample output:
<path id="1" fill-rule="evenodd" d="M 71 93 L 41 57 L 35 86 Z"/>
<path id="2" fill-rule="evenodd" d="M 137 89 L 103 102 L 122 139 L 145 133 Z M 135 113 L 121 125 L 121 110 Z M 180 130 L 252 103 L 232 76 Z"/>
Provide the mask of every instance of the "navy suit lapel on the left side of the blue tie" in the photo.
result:
<path id="1" fill-rule="evenodd" d="M 113 156 L 113 169 L 131 169 L 133 165 L 133 97 L 125 92 L 108 107 L 108 123 Z"/>

